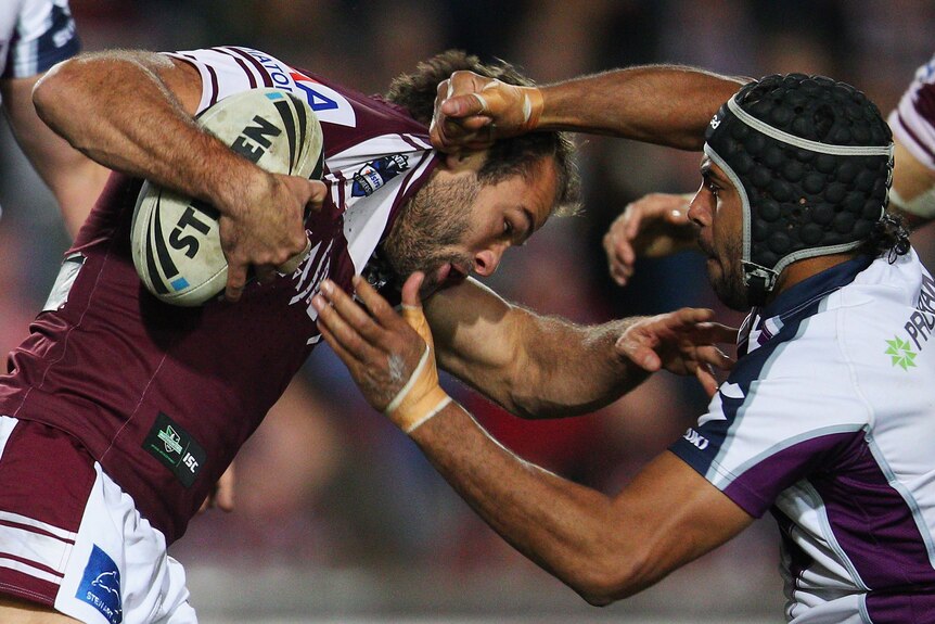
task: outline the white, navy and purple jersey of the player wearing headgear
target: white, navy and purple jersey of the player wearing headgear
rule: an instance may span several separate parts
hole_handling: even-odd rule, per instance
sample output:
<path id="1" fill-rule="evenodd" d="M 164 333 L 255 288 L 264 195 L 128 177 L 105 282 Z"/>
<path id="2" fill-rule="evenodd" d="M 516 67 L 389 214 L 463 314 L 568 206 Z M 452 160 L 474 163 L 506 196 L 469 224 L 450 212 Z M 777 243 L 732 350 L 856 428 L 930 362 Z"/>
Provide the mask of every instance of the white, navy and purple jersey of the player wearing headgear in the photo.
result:
<path id="1" fill-rule="evenodd" d="M 796 624 L 935 622 L 935 281 L 857 258 L 747 319 L 671 450 L 783 537 Z"/>

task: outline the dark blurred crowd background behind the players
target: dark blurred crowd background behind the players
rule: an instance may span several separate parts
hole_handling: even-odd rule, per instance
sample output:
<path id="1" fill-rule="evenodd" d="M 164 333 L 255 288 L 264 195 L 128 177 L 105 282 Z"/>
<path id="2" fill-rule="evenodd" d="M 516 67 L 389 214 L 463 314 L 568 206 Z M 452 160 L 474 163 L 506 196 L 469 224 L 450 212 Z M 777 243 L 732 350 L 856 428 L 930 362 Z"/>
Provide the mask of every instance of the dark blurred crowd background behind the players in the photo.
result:
<path id="1" fill-rule="evenodd" d="M 3 1 L 3 0 L 0 0 Z M 930 0 L 72 0 L 84 49 L 247 46 L 363 92 L 448 48 L 504 59 L 539 82 L 643 63 L 759 77 L 825 74 L 888 112 L 933 53 Z M 643 260 L 625 289 L 601 238 L 628 202 L 688 192 L 696 154 L 579 140 L 582 216 L 553 219 L 492 286 L 579 322 L 709 306 L 692 254 Z M 68 239 L 51 195 L 0 135 L 0 353 L 26 335 Z M 914 234 L 930 266 L 935 239 Z M 117 362 L 115 362 L 117 365 Z M 579 483 L 619 489 L 704 410 L 667 373 L 593 416 L 524 422 L 446 380 L 504 445 Z M 772 520 L 638 597 L 603 610 L 486 527 L 417 448 L 360 398 L 326 346 L 238 458 L 236 511 L 172 547 L 204 622 L 754 622 L 782 619 Z"/>

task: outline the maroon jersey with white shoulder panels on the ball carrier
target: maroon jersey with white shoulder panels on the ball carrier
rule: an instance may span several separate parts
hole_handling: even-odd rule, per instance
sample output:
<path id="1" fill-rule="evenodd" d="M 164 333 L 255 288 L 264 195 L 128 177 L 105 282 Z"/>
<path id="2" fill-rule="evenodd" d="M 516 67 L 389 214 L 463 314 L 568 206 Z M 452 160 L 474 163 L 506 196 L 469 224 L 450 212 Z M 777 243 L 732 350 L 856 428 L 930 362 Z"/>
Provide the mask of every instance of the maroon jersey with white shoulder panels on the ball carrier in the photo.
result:
<path id="1" fill-rule="evenodd" d="M 0 377 L 0 413 L 76 436 L 169 543 L 319 342 L 310 302 L 321 281 L 350 290 L 437 162 L 426 128 L 399 109 L 261 52 L 174 56 L 201 72 L 202 109 L 276 86 L 318 113 L 331 192 L 306 220 L 310 255 L 236 304 L 161 303 L 130 255 L 142 181 L 114 174 Z"/>

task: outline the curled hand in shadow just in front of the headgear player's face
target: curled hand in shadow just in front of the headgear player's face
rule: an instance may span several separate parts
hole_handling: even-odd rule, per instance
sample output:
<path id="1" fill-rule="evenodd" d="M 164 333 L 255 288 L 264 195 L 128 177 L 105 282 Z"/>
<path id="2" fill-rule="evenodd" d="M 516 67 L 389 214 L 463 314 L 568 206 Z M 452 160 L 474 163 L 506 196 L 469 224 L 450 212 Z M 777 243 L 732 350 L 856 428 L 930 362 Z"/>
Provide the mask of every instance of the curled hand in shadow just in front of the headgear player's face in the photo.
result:
<path id="1" fill-rule="evenodd" d="M 694 246 L 691 195 L 651 193 L 628 204 L 604 234 L 611 277 L 626 285 L 638 257 L 657 258 Z"/>

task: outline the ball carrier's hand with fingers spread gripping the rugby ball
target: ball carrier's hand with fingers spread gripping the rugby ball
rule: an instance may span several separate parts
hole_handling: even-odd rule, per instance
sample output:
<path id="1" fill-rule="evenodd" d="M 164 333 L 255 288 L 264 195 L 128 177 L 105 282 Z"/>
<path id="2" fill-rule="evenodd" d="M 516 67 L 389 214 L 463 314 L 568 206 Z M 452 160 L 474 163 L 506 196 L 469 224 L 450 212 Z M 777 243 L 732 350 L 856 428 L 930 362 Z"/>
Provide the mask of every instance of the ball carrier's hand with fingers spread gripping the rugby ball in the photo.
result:
<path id="1" fill-rule="evenodd" d="M 260 281 L 277 270 L 292 272 L 310 249 L 305 209 L 320 209 L 328 187 L 318 180 L 268 174 L 267 184 L 220 217 L 221 247 L 228 260 L 225 295 L 239 301 L 253 266 Z"/>

